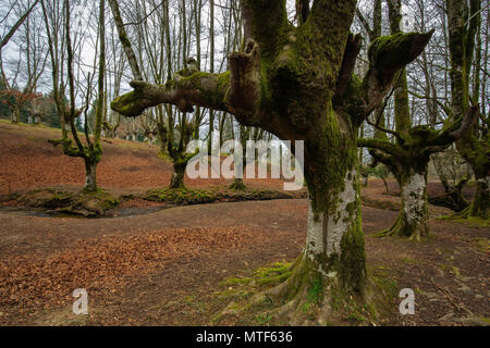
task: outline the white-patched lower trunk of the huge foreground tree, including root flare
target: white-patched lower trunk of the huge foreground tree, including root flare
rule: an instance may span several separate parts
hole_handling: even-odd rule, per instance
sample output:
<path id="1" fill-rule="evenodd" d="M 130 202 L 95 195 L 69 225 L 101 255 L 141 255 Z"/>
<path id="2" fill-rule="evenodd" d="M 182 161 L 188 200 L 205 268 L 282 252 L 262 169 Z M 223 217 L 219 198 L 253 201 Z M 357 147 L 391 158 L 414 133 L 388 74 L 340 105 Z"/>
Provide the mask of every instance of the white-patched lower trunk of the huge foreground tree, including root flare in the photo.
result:
<path id="1" fill-rule="evenodd" d="M 355 153 L 355 152 L 353 152 Z M 305 324 L 305 308 L 322 303 L 317 324 L 331 318 L 335 300 L 351 298 L 346 308 L 358 301 L 365 303 L 367 291 L 364 233 L 360 226 L 360 195 L 356 171 L 343 176 L 338 195 L 326 194 L 329 208 L 319 208 L 318 197 L 308 199 L 307 240 L 305 251 L 292 266 L 292 275 L 270 291 L 272 298 L 285 303 L 274 315 L 292 325 Z M 324 186 L 308 185 L 311 196 Z M 331 187 L 332 191 L 334 190 Z M 332 197 L 335 197 L 332 200 Z M 339 303 L 339 302 L 336 302 Z M 342 306 L 344 306 L 342 304 Z M 348 311 L 348 310 L 347 310 Z M 306 321 L 308 323 L 308 321 Z"/>

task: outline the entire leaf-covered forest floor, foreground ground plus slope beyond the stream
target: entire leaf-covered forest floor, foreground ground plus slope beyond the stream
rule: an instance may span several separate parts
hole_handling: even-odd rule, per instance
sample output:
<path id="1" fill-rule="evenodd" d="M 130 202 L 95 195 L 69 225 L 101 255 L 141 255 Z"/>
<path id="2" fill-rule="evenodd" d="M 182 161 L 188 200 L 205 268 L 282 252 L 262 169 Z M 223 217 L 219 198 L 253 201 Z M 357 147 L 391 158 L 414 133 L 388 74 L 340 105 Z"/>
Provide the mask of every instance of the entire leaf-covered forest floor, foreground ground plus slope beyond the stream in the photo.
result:
<path id="1" fill-rule="evenodd" d="M 56 136 L 48 128 L 0 123 L 0 195 L 82 186 L 83 163 L 46 142 Z M 102 187 L 127 194 L 169 184 L 171 165 L 157 157 L 156 148 L 110 141 L 98 172 Z M 188 185 L 228 184 L 209 182 Z M 246 184 L 282 186 L 267 179 Z M 378 324 L 489 324 L 490 229 L 439 220 L 451 211 L 430 206 L 428 240 L 375 238 L 397 215 L 375 208 L 384 201 L 400 204 L 393 181 L 389 188 L 387 195 L 382 182 L 373 179 L 363 189 L 368 269 L 383 273 L 399 290 L 414 289 L 416 312 L 402 316 L 402 299 L 394 298 L 392 314 Z M 429 195 L 441 190 L 439 183 L 430 183 Z M 465 192 L 470 196 L 471 187 Z M 268 316 L 230 310 L 233 296 L 250 295 L 236 293 L 240 285 L 230 279 L 293 261 L 304 247 L 306 215 L 305 199 L 220 202 L 105 219 L 0 209 L 0 325 L 274 324 Z M 88 293 L 88 315 L 72 313 L 76 288 Z"/>

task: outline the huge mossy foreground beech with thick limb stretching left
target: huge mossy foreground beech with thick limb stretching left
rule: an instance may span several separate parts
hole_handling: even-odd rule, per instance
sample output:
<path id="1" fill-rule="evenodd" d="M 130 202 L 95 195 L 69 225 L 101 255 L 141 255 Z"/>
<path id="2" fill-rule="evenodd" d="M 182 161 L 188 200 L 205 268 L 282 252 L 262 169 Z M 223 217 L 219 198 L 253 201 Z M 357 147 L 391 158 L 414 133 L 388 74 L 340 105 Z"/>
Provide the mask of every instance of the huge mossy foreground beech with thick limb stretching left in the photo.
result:
<path id="1" fill-rule="evenodd" d="M 245 45 L 230 55 L 230 71 L 195 72 L 160 86 L 135 79 L 134 90 L 111 103 L 127 117 L 160 103 L 182 112 L 210 108 L 280 139 L 305 141 L 306 249 L 273 291 L 287 300 L 289 313 L 301 309 L 318 284 L 326 300 L 334 290 L 356 298 L 365 294 L 357 129 L 431 37 L 409 33 L 375 40 L 369 70 L 359 79 L 353 71 L 362 38 L 351 33 L 357 1 L 299 2 L 293 26 L 285 0 L 241 1 Z"/>

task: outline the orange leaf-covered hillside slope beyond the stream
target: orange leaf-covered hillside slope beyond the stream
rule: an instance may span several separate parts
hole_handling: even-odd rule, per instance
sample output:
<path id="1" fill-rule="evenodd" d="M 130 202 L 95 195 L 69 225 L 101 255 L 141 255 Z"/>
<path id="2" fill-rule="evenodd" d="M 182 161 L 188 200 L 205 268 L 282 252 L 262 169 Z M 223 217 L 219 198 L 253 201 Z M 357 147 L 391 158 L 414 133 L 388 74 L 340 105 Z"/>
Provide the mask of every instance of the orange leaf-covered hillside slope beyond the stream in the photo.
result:
<path id="1" fill-rule="evenodd" d="M 12 125 L 0 121 L 0 195 L 38 187 L 82 187 L 84 162 L 62 153 L 48 139 L 58 139 L 61 130 L 42 126 Z M 158 157 L 158 147 L 121 139 L 102 139 L 103 154 L 97 169 L 98 185 L 103 188 L 144 190 L 166 187 L 172 164 Z M 229 185 L 231 181 L 185 179 L 188 187 Z M 246 179 L 257 188 L 282 188 L 278 179 Z"/>

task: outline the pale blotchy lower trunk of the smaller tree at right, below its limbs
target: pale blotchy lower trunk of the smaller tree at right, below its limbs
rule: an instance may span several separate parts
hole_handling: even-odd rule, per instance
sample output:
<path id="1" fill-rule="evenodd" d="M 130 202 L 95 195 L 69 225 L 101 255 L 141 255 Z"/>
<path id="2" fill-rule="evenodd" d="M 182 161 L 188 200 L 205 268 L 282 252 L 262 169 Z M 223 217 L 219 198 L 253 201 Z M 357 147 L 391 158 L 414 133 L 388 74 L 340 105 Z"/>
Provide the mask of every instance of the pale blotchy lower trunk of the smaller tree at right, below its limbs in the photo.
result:
<path id="1" fill-rule="evenodd" d="M 401 188 L 402 209 L 392 227 L 382 231 L 378 236 L 408 237 L 419 241 L 429 235 L 429 204 L 427 199 L 427 172 L 400 170 L 396 181 Z"/>

